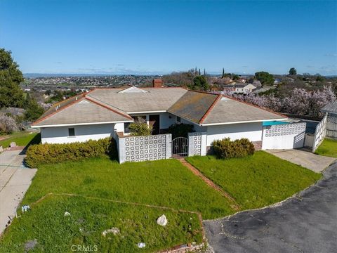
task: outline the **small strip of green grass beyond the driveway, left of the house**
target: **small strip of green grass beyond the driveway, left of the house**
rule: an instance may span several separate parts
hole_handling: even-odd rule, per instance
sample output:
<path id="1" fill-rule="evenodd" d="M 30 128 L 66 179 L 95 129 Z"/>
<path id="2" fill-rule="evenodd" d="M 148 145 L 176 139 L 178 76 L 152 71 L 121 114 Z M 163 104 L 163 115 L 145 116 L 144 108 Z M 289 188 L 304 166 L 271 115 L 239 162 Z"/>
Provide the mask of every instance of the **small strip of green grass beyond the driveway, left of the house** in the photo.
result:
<path id="1" fill-rule="evenodd" d="M 18 146 L 27 146 L 31 144 L 36 144 L 41 141 L 40 134 L 32 133 L 29 134 L 27 131 L 20 131 L 11 134 L 8 138 L 0 141 L 0 146 L 3 148 L 8 148 L 11 142 L 15 142 Z"/>

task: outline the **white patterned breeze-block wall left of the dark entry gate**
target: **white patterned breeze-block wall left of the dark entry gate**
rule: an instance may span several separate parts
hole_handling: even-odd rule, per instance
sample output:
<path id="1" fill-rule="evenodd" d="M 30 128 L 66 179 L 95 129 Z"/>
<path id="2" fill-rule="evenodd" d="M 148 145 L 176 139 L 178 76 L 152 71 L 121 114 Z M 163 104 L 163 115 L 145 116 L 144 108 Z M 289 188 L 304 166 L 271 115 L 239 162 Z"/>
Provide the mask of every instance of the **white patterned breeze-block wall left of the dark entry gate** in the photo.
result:
<path id="1" fill-rule="evenodd" d="M 115 136 L 119 163 L 153 161 L 171 157 L 171 134 L 122 137 L 116 134 Z"/>

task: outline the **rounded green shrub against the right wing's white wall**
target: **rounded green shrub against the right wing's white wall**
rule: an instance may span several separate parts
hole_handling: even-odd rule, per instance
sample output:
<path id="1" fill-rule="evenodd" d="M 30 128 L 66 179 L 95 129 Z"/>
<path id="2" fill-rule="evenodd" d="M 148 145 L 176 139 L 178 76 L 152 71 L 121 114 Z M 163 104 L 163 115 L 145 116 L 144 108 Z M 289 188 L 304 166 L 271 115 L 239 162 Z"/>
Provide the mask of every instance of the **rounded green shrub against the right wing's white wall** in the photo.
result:
<path id="1" fill-rule="evenodd" d="M 220 158 L 246 157 L 255 152 L 254 145 L 249 139 L 241 138 L 230 141 L 230 138 L 213 141 L 214 153 Z"/>

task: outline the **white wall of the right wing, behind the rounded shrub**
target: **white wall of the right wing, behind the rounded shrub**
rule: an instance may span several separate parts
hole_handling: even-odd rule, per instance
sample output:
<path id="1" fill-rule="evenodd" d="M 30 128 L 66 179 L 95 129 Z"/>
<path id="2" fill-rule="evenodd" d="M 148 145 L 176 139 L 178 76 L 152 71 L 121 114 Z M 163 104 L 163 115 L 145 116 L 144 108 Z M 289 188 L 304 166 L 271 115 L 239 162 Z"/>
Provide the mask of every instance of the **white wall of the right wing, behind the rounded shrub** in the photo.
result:
<path id="1" fill-rule="evenodd" d="M 262 122 L 207 126 L 206 145 L 210 146 L 213 141 L 227 137 L 232 141 L 239 138 L 248 138 L 249 141 L 262 141 L 262 131 Z"/>

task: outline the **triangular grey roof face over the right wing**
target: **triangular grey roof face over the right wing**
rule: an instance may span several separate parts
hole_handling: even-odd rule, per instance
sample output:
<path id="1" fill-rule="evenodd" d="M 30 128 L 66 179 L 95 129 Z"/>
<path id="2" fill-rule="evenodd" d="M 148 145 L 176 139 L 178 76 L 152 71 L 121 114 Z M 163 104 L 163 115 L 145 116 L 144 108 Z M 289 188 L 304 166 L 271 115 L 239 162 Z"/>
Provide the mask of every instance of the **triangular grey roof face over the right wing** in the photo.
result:
<path id="1" fill-rule="evenodd" d="M 214 105 L 202 124 L 263 121 L 286 119 L 285 116 L 270 112 L 254 105 L 223 97 Z"/>

